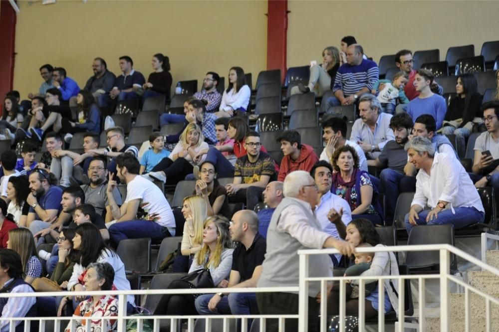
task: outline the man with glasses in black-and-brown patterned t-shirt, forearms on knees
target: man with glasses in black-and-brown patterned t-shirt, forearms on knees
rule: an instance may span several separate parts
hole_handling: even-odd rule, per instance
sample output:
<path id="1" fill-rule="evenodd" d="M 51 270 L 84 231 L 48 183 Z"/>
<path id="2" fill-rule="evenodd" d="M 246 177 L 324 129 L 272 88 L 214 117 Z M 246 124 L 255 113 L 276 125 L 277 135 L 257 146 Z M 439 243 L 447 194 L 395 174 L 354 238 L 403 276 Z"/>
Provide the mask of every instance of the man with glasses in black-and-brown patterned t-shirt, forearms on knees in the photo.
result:
<path id="1" fill-rule="evenodd" d="M 271 179 L 275 179 L 274 161 L 270 155 L 260 152 L 260 134 L 250 131 L 246 135 L 247 155 L 238 158 L 234 166 L 234 181 L 225 186 L 229 202 L 246 203 L 252 210 Z"/>

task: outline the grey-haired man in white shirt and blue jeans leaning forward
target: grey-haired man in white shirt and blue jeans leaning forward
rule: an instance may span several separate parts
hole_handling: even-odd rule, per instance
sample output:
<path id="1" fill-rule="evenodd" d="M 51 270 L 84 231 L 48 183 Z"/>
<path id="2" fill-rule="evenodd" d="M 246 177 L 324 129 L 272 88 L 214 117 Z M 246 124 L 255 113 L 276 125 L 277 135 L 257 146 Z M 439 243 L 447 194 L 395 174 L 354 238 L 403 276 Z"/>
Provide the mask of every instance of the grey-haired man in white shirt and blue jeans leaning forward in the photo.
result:
<path id="1" fill-rule="evenodd" d="M 407 142 L 405 150 L 409 163 L 419 169 L 416 193 L 405 216 L 408 233 L 416 225 L 462 228 L 484 221 L 480 195 L 454 155 L 436 153 L 432 142 L 422 136 Z"/>

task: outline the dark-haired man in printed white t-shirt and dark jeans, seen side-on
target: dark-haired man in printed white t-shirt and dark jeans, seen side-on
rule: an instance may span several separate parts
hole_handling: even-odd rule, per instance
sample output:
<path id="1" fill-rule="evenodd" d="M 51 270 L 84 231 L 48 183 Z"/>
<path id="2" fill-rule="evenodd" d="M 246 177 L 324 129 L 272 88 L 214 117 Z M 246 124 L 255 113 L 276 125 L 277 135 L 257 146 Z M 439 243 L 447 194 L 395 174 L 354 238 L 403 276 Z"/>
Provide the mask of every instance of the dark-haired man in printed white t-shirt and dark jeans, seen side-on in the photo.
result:
<path id="1" fill-rule="evenodd" d="M 122 183 L 127 184 L 127 195 L 121 208 L 112 195 L 117 183 L 113 175 L 109 175 L 107 197 L 115 220 L 107 225 L 115 246 L 121 240 L 130 238 L 150 237 L 152 241 L 161 241 L 167 236 L 175 236 L 175 217 L 170 204 L 161 189 L 138 175 L 139 169 L 140 164 L 135 156 L 122 154 L 116 157 L 117 176 Z M 139 208 L 144 213 L 139 212 Z"/>

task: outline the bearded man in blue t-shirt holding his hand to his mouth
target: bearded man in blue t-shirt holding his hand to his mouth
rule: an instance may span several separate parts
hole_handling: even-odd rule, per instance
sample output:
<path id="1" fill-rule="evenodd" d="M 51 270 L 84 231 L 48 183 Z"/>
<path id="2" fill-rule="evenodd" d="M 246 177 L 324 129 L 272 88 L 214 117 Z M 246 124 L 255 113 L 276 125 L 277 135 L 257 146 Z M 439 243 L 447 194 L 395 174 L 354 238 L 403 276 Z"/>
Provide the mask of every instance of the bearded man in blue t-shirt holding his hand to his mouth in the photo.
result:
<path id="1" fill-rule="evenodd" d="M 29 190 L 26 203 L 31 206 L 26 218 L 29 230 L 36 234 L 50 226 L 61 211 L 62 189 L 57 179 L 45 169 L 34 168 L 29 174 Z M 46 220 L 46 221 L 45 221 Z"/>

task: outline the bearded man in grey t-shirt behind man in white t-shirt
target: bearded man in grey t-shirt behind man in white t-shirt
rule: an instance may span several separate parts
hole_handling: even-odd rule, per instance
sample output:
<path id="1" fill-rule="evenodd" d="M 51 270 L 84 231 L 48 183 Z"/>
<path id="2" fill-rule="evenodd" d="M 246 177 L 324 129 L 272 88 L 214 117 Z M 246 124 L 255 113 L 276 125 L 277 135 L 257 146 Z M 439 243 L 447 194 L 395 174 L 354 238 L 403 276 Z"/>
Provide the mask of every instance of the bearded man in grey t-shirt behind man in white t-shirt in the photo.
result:
<path id="1" fill-rule="evenodd" d="M 106 221 L 113 220 L 113 214 L 109 207 L 109 199 L 106 194 L 108 170 L 103 158 L 92 158 L 88 167 L 89 184 L 83 184 L 81 189 L 85 193 L 85 203 L 93 205 L 98 215 L 104 215 Z M 121 206 L 121 195 L 117 187 L 113 188 L 112 196 L 118 206 Z"/>

